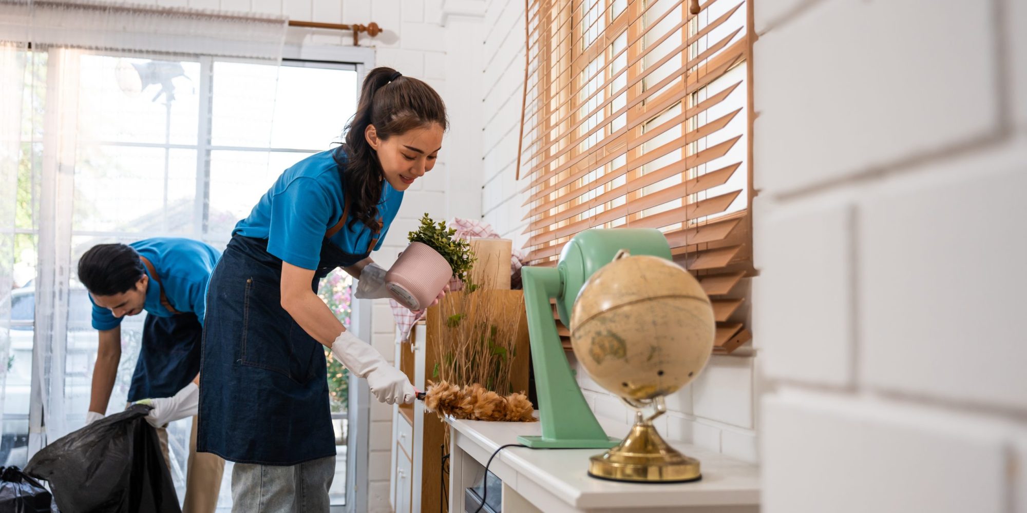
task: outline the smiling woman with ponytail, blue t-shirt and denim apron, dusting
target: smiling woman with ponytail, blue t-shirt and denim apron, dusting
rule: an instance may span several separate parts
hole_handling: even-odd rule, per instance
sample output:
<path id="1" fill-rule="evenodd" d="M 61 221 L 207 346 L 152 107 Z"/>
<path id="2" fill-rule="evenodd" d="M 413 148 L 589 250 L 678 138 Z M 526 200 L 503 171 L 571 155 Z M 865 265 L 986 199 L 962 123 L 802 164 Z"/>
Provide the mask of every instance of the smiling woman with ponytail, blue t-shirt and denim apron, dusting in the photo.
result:
<path id="1" fill-rule="evenodd" d="M 413 402 L 406 376 L 346 331 L 316 288 L 337 267 L 363 276 L 362 289 L 383 288 L 368 255 L 404 191 L 434 166 L 446 127 L 430 86 L 376 68 L 345 144 L 287 169 L 235 226 L 207 287 L 197 439 L 236 463 L 232 511 L 329 510 L 335 436 L 321 346 L 378 400 Z"/>

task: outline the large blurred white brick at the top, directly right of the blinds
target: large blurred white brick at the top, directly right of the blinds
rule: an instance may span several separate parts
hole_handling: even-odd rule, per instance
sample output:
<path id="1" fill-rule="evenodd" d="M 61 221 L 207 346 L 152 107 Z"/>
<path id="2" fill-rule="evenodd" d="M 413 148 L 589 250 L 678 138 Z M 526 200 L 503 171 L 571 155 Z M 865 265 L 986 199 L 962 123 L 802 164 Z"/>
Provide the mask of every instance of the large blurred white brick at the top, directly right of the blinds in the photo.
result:
<path id="1" fill-rule="evenodd" d="M 822 1 L 764 34 L 758 187 L 789 192 L 993 134 L 995 4 Z"/>

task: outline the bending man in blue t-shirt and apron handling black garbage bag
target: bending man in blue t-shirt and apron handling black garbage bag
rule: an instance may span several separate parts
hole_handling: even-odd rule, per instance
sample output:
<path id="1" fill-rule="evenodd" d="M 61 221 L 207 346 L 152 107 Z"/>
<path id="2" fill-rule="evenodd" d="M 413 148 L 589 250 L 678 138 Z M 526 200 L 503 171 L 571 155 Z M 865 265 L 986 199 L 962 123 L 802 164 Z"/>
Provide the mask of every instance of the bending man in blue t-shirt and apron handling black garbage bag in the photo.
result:
<path id="1" fill-rule="evenodd" d="M 154 407 L 147 421 L 157 428 L 165 460 L 167 423 L 193 417 L 185 513 L 214 513 L 225 467 L 221 458 L 196 452 L 195 417 L 206 282 L 220 256 L 195 240 L 153 238 L 99 244 L 78 262 L 78 278 L 92 301 L 92 327 L 100 331 L 85 422 L 107 411 L 121 358 L 121 319 L 147 312 L 128 401 Z"/>

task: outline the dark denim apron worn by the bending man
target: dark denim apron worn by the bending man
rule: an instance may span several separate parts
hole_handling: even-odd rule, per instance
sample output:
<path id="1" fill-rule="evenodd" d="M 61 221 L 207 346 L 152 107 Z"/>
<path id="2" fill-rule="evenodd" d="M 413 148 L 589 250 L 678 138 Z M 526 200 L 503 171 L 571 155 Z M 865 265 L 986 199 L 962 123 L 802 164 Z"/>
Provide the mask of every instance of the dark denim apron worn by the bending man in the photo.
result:
<path id="1" fill-rule="evenodd" d="M 141 258 L 150 277 L 160 283 L 153 264 Z M 151 397 L 170 397 L 199 372 L 200 338 L 203 326 L 196 314 L 179 312 L 172 307 L 160 287 L 160 304 L 170 317 L 147 314 L 143 323 L 143 342 L 136 361 L 136 372 L 128 388 L 128 402 Z"/>

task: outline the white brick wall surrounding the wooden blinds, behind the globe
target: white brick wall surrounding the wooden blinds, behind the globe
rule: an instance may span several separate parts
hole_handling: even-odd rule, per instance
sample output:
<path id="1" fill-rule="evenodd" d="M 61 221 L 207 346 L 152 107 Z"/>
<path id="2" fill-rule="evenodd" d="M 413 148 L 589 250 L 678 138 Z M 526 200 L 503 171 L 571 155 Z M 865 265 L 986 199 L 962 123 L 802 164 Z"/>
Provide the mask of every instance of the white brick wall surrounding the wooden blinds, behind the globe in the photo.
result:
<path id="1" fill-rule="evenodd" d="M 484 119 L 482 216 L 521 247 L 527 241 L 521 233 L 526 210 L 518 191 L 525 183 L 515 176 L 524 87 L 524 3 L 488 2 L 485 26 L 483 89 L 477 96 Z M 588 379 L 569 356 L 593 410 L 601 418 L 633 421 L 623 403 Z M 657 423 L 660 433 L 755 462 L 754 363 L 755 357 L 713 358 L 692 385 L 668 398 L 669 413 Z"/>

